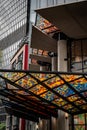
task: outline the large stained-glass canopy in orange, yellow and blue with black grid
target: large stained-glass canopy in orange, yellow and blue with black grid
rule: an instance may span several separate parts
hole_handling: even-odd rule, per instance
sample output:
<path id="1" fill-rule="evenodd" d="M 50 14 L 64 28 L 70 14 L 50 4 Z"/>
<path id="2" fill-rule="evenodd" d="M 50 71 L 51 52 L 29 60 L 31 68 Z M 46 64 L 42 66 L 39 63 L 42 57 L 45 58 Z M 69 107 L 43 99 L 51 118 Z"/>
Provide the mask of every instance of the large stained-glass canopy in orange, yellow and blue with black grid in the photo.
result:
<path id="1" fill-rule="evenodd" d="M 0 70 L 0 94 L 41 118 L 57 117 L 58 109 L 86 113 L 87 74 Z"/>

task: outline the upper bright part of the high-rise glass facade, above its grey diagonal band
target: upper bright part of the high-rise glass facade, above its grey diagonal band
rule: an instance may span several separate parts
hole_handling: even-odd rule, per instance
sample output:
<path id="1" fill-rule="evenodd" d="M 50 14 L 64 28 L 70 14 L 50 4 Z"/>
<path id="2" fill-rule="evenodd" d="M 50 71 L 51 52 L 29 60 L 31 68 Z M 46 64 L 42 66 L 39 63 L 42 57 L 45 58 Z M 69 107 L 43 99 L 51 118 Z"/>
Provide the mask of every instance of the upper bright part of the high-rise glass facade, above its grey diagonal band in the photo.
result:
<path id="1" fill-rule="evenodd" d="M 27 0 L 0 1 L 0 40 L 26 24 Z"/>

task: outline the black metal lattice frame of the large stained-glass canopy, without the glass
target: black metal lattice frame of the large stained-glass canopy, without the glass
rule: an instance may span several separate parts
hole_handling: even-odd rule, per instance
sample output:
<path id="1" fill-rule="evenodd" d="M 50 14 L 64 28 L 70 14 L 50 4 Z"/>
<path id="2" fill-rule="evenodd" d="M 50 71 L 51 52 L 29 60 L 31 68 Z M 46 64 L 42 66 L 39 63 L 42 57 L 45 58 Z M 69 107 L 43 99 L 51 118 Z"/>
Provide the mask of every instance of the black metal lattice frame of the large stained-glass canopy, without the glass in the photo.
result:
<path id="1" fill-rule="evenodd" d="M 5 73 L 8 73 L 8 74 L 9 73 L 24 73 L 24 75 L 22 77 L 19 77 L 17 80 L 11 80 L 9 78 L 6 78 L 3 75 Z M 41 81 L 33 74 L 50 74 L 50 75 L 53 74 L 53 76 Z M 67 82 L 62 77 L 62 75 L 77 75 L 78 78 Z M 26 76 L 30 76 L 31 78 L 33 78 L 37 82 L 37 84 L 32 85 L 30 88 L 26 89 L 16 83 L 17 81 L 20 81 L 22 78 L 25 78 Z M 87 98 L 81 94 L 82 92 L 87 92 L 87 90 L 79 92 L 70 84 L 71 82 L 74 82 L 80 78 L 84 78 L 87 80 L 86 76 L 87 76 L 87 73 L 46 72 L 46 71 L 28 71 L 28 70 L 26 70 L 26 71 L 25 70 L 0 70 L 0 79 L 3 79 L 6 83 L 6 87 L 2 86 L 2 84 L 1 84 L 0 95 L 9 99 L 9 102 L 3 101 L 3 103 L 8 102 L 8 104 L 12 105 L 12 108 L 13 108 L 13 106 L 17 106 L 16 104 L 18 104 L 20 107 L 20 110 L 22 112 L 26 111 L 28 116 L 31 116 L 30 113 L 32 113 L 31 119 L 34 119 L 33 117 L 34 117 L 34 115 L 36 115 L 37 119 L 35 118 L 35 121 L 38 120 L 39 117 L 43 118 L 43 119 L 48 119 L 48 118 L 50 119 L 51 116 L 57 117 L 58 109 L 61 109 L 65 112 L 71 114 L 72 116 L 74 116 L 76 114 L 81 114 L 81 113 L 87 112 L 86 109 L 82 108 L 82 105 L 84 105 L 84 104 L 80 104 L 80 105 L 75 104 L 75 102 L 72 102 L 68 99 L 69 96 L 65 97 L 64 95 L 61 95 L 60 93 L 55 91 L 55 88 L 61 87 L 65 84 L 65 85 L 67 85 L 67 87 L 69 89 L 74 91 L 74 93 L 87 104 Z M 51 88 L 51 86 L 49 87 L 45 82 L 47 80 L 51 80 L 52 78 L 55 78 L 55 77 L 60 78 L 64 83 L 61 85 L 55 86 L 54 88 Z M 15 87 L 15 89 L 7 88 L 8 84 L 13 85 Z M 46 89 L 45 92 L 43 92 L 39 95 L 37 95 L 31 91 L 31 88 L 34 88 L 38 84 L 40 84 L 41 86 L 43 86 Z M 23 91 L 24 93 L 26 93 L 26 95 L 18 93 L 19 91 Z M 50 101 L 50 100 L 47 100 L 47 99 L 41 97 L 42 94 L 47 93 L 47 92 L 53 93 L 56 96 L 56 99 L 61 98 L 63 101 L 66 102 L 65 105 L 59 106 L 58 104 L 55 104 L 53 102 L 54 100 Z M 70 95 L 70 96 L 72 96 L 72 95 Z M 79 100 L 79 99 L 77 99 L 77 100 Z M 7 108 L 9 107 L 8 104 L 6 106 Z M 71 105 L 72 108 L 67 109 L 66 108 L 67 105 Z M 72 111 L 72 109 L 74 109 L 74 108 L 76 108 L 75 112 Z M 11 107 L 10 107 L 10 109 L 11 109 Z M 19 108 L 14 107 L 14 109 L 18 110 Z M 19 114 L 19 115 L 21 115 L 21 114 Z M 26 115 L 26 113 L 25 113 L 25 115 Z"/>

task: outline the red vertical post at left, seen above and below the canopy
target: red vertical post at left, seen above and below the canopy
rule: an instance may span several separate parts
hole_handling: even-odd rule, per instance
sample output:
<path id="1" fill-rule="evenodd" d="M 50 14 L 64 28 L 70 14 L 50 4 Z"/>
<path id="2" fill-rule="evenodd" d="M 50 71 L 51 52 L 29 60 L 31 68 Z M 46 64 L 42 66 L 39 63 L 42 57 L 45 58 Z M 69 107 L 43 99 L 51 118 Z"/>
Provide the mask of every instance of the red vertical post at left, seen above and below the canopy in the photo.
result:
<path id="1" fill-rule="evenodd" d="M 28 44 L 24 45 L 24 50 L 23 50 L 23 70 L 28 70 Z M 25 125 L 26 121 L 25 119 L 20 119 L 20 130 L 25 130 Z"/>

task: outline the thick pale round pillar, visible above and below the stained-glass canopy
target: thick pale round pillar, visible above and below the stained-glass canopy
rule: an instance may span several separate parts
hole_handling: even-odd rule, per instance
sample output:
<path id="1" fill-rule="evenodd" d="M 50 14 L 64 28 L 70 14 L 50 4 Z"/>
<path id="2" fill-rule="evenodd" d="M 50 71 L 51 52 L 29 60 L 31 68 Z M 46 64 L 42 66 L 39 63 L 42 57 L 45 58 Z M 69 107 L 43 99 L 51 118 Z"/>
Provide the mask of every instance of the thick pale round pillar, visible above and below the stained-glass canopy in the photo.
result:
<path id="1" fill-rule="evenodd" d="M 67 40 L 66 36 L 62 33 L 58 37 L 58 71 L 67 72 Z M 69 130 L 68 119 L 65 119 L 65 112 L 58 110 L 58 130 Z"/>

